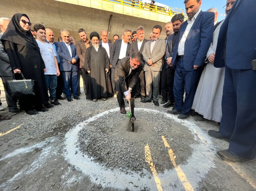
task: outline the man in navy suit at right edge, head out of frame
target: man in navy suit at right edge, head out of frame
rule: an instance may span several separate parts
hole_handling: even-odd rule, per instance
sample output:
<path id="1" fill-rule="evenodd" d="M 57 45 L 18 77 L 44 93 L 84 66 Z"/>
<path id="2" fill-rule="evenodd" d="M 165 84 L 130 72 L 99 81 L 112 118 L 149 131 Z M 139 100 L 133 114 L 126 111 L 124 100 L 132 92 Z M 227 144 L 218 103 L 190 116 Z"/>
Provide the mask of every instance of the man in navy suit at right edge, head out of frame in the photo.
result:
<path id="1" fill-rule="evenodd" d="M 229 149 L 217 152 L 219 158 L 242 163 L 256 158 L 256 1 L 227 0 L 231 5 L 214 59 L 215 67 L 225 66 L 221 125 L 208 134 L 229 141 Z"/>

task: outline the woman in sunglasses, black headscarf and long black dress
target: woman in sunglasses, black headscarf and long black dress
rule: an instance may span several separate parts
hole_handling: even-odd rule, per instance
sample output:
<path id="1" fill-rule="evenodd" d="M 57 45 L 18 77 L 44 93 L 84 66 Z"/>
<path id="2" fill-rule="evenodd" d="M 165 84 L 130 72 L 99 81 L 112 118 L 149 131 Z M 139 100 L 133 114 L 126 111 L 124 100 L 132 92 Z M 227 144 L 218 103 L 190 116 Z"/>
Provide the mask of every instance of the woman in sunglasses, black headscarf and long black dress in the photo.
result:
<path id="1" fill-rule="evenodd" d="M 15 78 L 21 78 L 20 74 L 26 79 L 35 80 L 35 96 L 19 99 L 20 108 L 27 114 L 34 115 L 38 112 L 46 112 L 43 108 L 48 100 L 48 92 L 44 77 L 45 64 L 42 59 L 39 47 L 30 32 L 29 17 L 22 13 L 16 13 L 4 32 L 1 41 L 9 56 L 10 64 Z"/>

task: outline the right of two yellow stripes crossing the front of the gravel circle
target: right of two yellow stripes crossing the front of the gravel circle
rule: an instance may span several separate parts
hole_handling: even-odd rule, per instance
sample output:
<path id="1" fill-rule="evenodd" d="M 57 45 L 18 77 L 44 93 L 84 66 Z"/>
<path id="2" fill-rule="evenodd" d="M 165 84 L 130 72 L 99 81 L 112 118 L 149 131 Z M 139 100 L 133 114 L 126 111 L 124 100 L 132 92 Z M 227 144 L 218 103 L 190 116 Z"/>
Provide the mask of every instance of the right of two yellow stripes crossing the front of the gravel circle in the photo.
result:
<path id="1" fill-rule="evenodd" d="M 172 161 L 173 167 L 176 170 L 178 178 L 180 179 L 181 183 L 183 184 L 184 189 L 186 191 L 193 191 L 194 189 L 193 189 L 192 185 L 188 182 L 188 179 L 187 179 L 185 173 L 182 171 L 180 166 L 176 165 L 176 162 L 175 162 L 176 156 L 175 156 L 173 150 L 170 148 L 170 145 L 167 143 L 167 140 L 165 139 L 164 136 L 162 136 L 162 140 L 163 140 L 163 144 L 165 144 L 165 147 L 169 148 L 168 154 L 169 154 L 170 160 Z"/>

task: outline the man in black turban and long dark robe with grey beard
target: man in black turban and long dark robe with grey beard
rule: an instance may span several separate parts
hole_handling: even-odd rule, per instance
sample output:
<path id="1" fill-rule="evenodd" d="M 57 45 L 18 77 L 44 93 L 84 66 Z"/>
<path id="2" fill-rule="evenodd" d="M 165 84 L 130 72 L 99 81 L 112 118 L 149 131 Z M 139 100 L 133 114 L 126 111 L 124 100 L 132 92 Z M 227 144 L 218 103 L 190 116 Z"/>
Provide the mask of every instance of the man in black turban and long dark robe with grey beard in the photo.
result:
<path id="1" fill-rule="evenodd" d="M 91 32 L 91 43 L 93 46 L 86 51 L 84 67 L 89 73 L 89 80 L 86 86 L 86 99 L 97 101 L 101 98 L 103 101 L 109 97 L 106 75 L 109 72 L 109 57 L 105 48 L 99 46 L 99 34 Z"/>

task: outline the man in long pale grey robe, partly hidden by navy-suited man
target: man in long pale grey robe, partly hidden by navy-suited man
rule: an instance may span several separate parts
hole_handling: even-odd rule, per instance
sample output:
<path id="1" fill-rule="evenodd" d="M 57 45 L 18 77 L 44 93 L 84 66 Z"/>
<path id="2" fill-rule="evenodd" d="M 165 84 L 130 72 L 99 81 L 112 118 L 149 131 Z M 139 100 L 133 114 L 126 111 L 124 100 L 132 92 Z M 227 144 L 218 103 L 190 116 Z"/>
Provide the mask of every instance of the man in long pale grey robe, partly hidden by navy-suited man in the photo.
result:
<path id="1" fill-rule="evenodd" d="M 229 3 L 228 1 L 230 0 L 227 0 L 227 3 Z M 233 4 L 231 4 L 230 6 L 226 6 L 226 15 L 229 13 L 232 6 Z M 214 8 L 212 8 L 212 10 L 214 11 Z M 221 122 L 221 99 L 223 92 L 225 67 L 215 68 L 213 63 L 218 42 L 219 30 L 223 24 L 223 21 L 224 20 L 215 25 L 217 26 L 216 28 L 214 26 L 215 30 L 213 32 L 212 43 L 206 54 L 205 63 L 207 63 L 207 65 L 204 67 L 204 70 L 200 77 L 200 81 L 198 83 L 192 105 L 192 109 L 202 115 L 202 120 L 203 118 L 205 118 L 208 120 Z"/>

